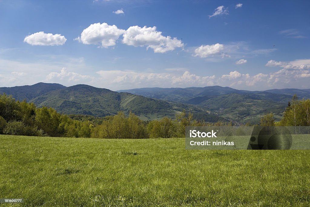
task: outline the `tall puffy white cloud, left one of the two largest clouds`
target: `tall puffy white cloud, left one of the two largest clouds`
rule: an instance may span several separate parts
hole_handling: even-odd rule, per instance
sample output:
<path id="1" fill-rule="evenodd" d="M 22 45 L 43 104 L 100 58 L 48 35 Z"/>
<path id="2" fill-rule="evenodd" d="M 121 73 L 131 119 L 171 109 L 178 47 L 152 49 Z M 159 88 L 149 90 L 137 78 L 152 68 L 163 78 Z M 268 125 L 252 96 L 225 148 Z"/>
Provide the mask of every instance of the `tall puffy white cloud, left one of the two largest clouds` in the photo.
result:
<path id="1" fill-rule="evenodd" d="M 100 47 L 109 47 L 116 44 L 116 40 L 125 30 L 118 29 L 115 25 L 95 23 L 83 30 L 81 37 L 75 38 L 83 44 L 99 44 Z"/>

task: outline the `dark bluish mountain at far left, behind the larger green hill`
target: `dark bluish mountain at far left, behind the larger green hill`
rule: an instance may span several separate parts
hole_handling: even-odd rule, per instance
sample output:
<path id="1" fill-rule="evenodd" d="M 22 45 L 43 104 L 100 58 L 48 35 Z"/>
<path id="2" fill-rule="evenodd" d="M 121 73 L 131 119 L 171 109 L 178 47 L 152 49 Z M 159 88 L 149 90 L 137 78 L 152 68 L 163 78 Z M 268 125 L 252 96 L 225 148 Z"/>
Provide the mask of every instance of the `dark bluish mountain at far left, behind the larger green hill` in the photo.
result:
<path id="1" fill-rule="evenodd" d="M 44 93 L 54 91 L 60 88 L 66 88 L 58 83 L 36 83 L 31 86 L 14 86 L 14 87 L 1 87 L 0 94 L 12 95 L 13 98 L 19 101 L 30 101 Z"/>

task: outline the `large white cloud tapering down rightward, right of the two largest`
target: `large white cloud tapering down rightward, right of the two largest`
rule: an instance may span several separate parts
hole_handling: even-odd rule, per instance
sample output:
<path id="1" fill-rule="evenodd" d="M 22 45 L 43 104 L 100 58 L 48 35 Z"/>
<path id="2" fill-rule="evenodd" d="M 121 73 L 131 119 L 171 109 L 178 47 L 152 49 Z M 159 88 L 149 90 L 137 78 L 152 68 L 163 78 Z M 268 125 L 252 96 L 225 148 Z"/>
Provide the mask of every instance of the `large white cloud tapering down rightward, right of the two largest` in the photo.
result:
<path id="1" fill-rule="evenodd" d="M 163 36 L 162 32 L 156 31 L 156 27 L 131 26 L 123 34 L 123 43 L 135 47 L 147 46 L 154 52 L 164 53 L 172 51 L 177 47 L 183 47 L 184 44 L 177 38 Z"/>

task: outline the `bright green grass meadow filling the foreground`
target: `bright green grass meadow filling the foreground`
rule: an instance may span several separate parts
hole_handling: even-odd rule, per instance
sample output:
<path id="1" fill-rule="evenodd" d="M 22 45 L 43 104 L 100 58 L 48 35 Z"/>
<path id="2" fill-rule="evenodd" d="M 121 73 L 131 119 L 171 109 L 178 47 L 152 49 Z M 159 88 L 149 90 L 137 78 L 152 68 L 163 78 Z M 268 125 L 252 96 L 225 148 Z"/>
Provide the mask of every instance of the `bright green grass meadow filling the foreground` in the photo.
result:
<path id="1" fill-rule="evenodd" d="M 0 206 L 309 206 L 310 151 L 0 135 Z"/>

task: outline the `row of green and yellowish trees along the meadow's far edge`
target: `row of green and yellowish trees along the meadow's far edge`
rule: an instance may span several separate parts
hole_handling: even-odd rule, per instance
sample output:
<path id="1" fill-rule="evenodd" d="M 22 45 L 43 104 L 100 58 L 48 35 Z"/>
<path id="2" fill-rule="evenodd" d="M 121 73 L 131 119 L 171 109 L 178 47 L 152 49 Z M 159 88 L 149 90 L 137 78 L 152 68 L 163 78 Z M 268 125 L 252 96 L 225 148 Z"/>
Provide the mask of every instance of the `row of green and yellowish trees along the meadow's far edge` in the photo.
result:
<path id="1" fill-rule="evenodd" d="M 232 122 L 210 123 L 193 119 L 185 110 L 161 120 L 142 121 L 134 113 L 128 117 L 124 112 L 114 116 L 91 119 L 85 115 L 63 115 L 53 108 L 37 108 L 33 103 L 15 101 L 11 96 L 0 95 L 0 133 L 26 136 L 94 137 L 94 138 L 170 138 L 185 137 L 186 126 L 231 126 Z M 309 126 L 310 100 L 298 100 L 296 96 L 288 103 L 283 119 L 275 123 L 273 114 L 260 121 L 262 126 Z"/>

